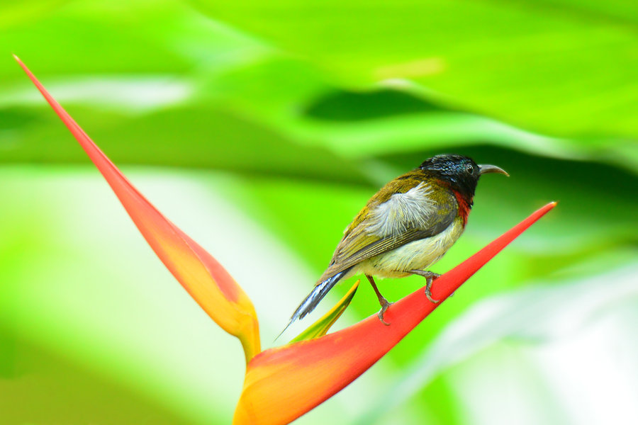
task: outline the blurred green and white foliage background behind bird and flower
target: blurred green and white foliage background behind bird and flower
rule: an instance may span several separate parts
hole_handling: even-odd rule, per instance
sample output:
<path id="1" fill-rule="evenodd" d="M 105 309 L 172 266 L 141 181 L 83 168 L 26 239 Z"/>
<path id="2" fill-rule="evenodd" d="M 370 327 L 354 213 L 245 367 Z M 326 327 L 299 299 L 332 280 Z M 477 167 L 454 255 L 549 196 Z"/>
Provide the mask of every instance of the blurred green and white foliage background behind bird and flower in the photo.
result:
<path id="1" fill-rule="evenodd" d="M 228 268 L 265 347 L 432 154 L 511 176 L 433 271 L 559 201 L 299 424 L 638 421 L 632 1 L 28 0 L 0 5 L 0 53 L 1 424 L 225 424 L 245 367 L 11 53 Z M 377 308 L 362 285 L 337 327 Z"/>

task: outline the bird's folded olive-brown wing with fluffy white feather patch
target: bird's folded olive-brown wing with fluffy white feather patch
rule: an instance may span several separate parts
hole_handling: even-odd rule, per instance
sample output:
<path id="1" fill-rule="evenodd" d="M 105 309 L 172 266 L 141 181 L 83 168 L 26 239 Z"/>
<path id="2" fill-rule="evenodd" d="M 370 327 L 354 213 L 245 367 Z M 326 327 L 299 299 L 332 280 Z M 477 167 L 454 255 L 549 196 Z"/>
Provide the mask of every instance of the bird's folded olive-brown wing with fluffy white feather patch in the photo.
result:
<path id="1" fill-rule="evenodd" d="M 452 223 L 457 210 L 454 194 L 427 183 L 394 193 L 376 205 L 373 198 L 346 229 L 319 281 L 409 242 L 439 234 Z"/>

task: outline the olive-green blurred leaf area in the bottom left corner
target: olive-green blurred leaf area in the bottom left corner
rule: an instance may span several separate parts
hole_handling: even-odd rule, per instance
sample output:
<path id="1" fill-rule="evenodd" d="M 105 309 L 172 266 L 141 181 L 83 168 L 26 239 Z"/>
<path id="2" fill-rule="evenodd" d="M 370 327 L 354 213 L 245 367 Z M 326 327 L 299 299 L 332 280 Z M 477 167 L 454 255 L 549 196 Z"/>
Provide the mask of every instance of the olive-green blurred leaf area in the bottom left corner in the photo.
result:
<path id="1" fill-rule="evenodd" d="M 5 336 L 0 327 L 0 367 L 7 365 L 1 358 Z M 16 375 L 2 376 L 0 371 L 4 424 L 192 424 L 130 387 L 30 341 L 14 341 L 13 350 Z"/>

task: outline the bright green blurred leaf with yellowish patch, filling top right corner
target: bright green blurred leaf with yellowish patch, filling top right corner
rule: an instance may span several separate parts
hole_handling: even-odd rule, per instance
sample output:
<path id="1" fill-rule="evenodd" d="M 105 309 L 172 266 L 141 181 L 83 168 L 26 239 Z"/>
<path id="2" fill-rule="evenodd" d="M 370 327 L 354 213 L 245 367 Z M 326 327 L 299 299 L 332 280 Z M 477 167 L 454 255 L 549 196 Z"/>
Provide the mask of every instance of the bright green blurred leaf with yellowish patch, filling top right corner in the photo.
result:
<path id="1" fill-rule="evenodd" d="M 629 3 L 195 4 L 336 84 L 362 89 L 408 79 L 417 94 L 427 89 L 449 105 L 538 132 L 638 136 L 638 20 Z"/>

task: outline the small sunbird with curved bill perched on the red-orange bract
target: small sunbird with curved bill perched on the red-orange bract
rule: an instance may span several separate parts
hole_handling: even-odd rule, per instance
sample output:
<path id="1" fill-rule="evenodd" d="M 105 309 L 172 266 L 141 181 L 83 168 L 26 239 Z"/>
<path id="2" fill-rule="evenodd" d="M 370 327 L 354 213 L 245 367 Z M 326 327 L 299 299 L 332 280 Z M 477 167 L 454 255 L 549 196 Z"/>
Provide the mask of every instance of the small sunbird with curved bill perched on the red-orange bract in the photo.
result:
<path id="1" fill-rule="evenodd" d="M 381 305 L 379 319 L 386 325 L 384 313 L 391 302 L 381 295 L 373 276 L 422 276 L 427 299 L 438 302 L 432 299 L 431 288 L 439 275 L 425 269 L 441 259 L 463 233 L 478 179 L 488 173 L 509 176 L 496 165 L 440 154 L 386 183 L 346 227 L 328 268 L 281 334 L 312 312 L 338 281 L 357 274 L 364 274 L 372 286 Z"/>

